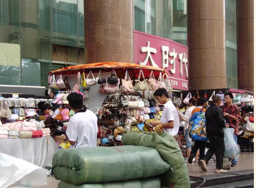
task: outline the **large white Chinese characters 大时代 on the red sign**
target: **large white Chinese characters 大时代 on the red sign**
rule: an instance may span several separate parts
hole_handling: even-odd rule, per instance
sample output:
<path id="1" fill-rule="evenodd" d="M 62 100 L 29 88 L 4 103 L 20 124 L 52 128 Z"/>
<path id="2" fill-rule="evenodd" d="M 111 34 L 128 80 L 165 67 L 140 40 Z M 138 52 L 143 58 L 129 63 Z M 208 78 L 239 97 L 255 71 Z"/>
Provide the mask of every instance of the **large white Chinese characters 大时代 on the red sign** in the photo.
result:
<path id="1" fill-rule="evenodd" d="M 152 66 L 158 67 L 159 66 L 155 63 L 153 60 L 151 53 L 157 53 L 157 50 L 155 48 L 152 48 L 149 46 L 150 42 L 147 41 L 147 46 L 146 47 L 141 47 L 141 52 L 146 53 L 145 60 L 143 62 L 139 61 L 140 65 L 146 65 L 146 63 L 149 62 L 151 63 Z M 172 52 L 169 52 L 169 47 L 168 46 L 161 46 L 161 51 L 162 51 L 162 68 L 168 68 L 168 65 L 172 65 L 172 69 L 169 69 L 171 74 L 175 74 L 176 69 L 175 69 L 175 59 L 177 57 L 177 53 L 175 53 L 175 49 L 172 49 Z M 169 57 L 172 57 L 172 60 L 169 60 Z M 178 60 L 180 61 L 180 76 L 183 76 L 183 65 L 185 68 L 185 75 L 186 79 L 188 79 L 188 57 L 186 53 L 180 53 L 178 54 Z"/>

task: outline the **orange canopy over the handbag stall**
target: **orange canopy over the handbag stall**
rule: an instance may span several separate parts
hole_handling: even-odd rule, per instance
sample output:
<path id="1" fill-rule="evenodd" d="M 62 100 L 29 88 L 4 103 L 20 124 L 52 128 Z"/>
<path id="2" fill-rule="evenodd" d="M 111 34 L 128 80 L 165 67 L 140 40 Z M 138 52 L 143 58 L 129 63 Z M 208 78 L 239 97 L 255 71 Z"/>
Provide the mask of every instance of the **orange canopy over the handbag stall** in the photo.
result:
<path id="1" fill-rule="evenodd" d="M 128 72 L 133 72 L 136 76 L 138 76 L 139 71 L 142 70 L 145 77 L 149 77 L 151 71 L 154 71 L 155 75 L 159 75 L 160 72 L 162 74 L 168 72 L 163 68 L 157 68 L 153 66 L 147 65 L 138 65 L 135 63 L 121 63 L 121 62 L 100 62 L 100 63 L 89 63 L 89 64 L 82 64 L 82 65 L 71 65 L 65 68 L 60 68 L 55 71 L 49 72 L 49 74 L 77 74 L 79 71 L 84 71 L 85 73 L 89 73 L 92 71 L 93 73 L 98 73 L 100 70 L 101 72 L 111 72 L 112 70 L 116 72 L 124 72 L 128 70 Z"/>

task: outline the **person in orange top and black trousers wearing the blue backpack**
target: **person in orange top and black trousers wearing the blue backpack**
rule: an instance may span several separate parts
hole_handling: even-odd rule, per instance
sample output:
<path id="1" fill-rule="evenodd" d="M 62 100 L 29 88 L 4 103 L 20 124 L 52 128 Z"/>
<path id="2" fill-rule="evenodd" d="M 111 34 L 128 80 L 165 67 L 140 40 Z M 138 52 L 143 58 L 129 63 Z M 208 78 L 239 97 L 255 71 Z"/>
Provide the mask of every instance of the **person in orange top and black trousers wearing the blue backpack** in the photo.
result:
<path id="1" fill-rule="evenodd" d="M 192 113 L 191 113 L 191 116 L 195 113 L 195 112 L 200 112 L 201 109 L 203 108 L 203 111 L 202 112 L 205 112 L 206 109 L 205 109 L 205 105 L 206 105 L 206 102 L 207 100 L 203 97 L 200 97 L 197 101 L 197 107 L 195 107 L 193 110 L 192 110 Z M 188 163 L 191 164 L 192 161 L 193 161 L 193 158 L 194 156 L 196 155 L 197 153 L 197 150 L 199 150 L 200 152 L 200 155 L 199 155 L 199 160 L 203 160 L 204 156 L 205 156 L 205 142 L 204 141 L 198 141 L 198 140 L 195 140 L 195 144 L 194 144 L 194 147 L 193 149 L 191 150 L 191 153 L 188 157 Z M 200 164 L 200 163 L 199 163 Z"/>

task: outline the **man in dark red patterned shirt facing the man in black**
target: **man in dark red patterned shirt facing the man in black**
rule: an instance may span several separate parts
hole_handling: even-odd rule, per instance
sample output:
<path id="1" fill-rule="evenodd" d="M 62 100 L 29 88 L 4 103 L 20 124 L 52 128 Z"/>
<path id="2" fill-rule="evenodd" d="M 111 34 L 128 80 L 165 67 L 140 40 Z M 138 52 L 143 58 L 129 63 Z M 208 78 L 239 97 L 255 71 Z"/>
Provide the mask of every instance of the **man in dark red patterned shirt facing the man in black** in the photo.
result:
<path id="1" fill-rule="evenodd" d="M 230 128 L 234 128 L 234 140 L 237 144 L 237 135 L 238 135 L 238 126 L 239 126 L 239 118 L 240 113 L 238 106 L 233 104 L 233 95 L 232 93 L 226 93 L 224 95 L 225 105 L 222 107 L 222 112 L 225 117 L 228 118 L 228 123 L 230 124 Z M 231 161 L 231 166 L 236 166 L 237 159 L 233 159 Z"/>

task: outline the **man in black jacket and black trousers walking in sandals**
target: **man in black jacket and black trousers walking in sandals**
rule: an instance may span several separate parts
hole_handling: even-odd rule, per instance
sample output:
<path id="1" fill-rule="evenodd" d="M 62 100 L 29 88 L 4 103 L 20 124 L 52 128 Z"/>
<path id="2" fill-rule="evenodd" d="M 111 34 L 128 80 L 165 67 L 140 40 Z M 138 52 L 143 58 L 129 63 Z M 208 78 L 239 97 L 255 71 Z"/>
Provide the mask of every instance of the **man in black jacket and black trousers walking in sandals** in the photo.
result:
<path id="1" fill-rule="evenodd" d="M 222 169 L 224 158 L 224 131 L 223 128 L 228 128 L 228 123 L 225 124 L 225 117 L 219 108 L 221 98 L 214 95 L 212 98 L 212 105 L 205 111 L 206 119 L 206 133 L 209 138 L 210 148 L 206 152 L 203 160 L 200 160 L 201 169 L 207 172 L 206 163 L 211 159 L 215 153 L 216 156 L 216 170 L 215 173 L 227 172 Z"/>

